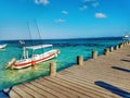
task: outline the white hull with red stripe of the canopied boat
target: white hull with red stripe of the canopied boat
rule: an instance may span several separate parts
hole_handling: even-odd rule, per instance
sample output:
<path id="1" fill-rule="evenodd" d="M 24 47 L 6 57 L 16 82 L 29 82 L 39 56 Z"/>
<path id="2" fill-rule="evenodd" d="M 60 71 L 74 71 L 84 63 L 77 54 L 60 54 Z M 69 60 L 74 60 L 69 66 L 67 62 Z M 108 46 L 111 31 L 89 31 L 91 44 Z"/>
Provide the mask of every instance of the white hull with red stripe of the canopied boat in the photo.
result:
<path id="1" fill-rule="evenodd" d="M 54 57 L 57 57 L 58 53 L 60 53 L 60 50 L 51 50 L 51 51 L 44 52 L 42 54 L 35 54 L 32 58 L 16 61 L 12 68 L 13 69 L 24 69 L 27 66 L 34 66 L 40 62 L 44 62 Z"/>

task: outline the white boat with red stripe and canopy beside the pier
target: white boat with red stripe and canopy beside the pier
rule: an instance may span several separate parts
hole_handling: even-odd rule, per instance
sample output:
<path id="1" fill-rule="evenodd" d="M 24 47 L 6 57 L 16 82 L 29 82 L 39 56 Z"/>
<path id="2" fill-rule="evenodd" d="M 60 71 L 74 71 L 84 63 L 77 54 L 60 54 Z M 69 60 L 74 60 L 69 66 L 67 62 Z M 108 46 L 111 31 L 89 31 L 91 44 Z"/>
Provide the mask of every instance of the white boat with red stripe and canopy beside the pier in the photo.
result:
<path id="1" fill-rule="evenodd" d="M 28 50 L 31 49 L 32 52 L 35 52 L 35 50 L 37 49 L 44 49 L 48 47 L 52 47 L 52 49 L 42 52 L 40 54 L 32 54 L 31 57 L 28 57 Z M 39 45 L 39 46 L 30 46 L 30 47 L 24 47 L 23 50 L 23 59 L 21 60 L 16 60 L 13 62 L 13 65 L 11 65 L 12 69 L 23 69 L 23 68 L 27 68 L 27 66 L 32 66 L 36 65 L 40 62 L 50 60 L 54 57 L 57 57 L 57 54 L 60 53 L 60 50 L 57 49 L 53 49 L 52 45 Z"/>

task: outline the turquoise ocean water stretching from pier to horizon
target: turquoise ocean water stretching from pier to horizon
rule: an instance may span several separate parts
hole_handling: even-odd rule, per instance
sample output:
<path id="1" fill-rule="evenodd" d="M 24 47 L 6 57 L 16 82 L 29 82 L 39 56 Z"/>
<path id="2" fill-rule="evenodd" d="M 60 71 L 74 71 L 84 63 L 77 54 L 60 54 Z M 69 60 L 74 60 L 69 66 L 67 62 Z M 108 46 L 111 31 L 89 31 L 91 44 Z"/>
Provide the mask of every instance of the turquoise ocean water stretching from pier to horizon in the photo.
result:
<path id="1" fill-rule="evenodd" d="M 38 77 L 49 75 L 49 63 L 55 61 L 57 71 L 64 70 L 76 64 L 77 56 L 83 56 L 84 60 L 91 58 L 92 50 L 98 50 L 99 56 L 103 54 L 105 48 L 116 46 L 121 42 L 120 37 L 108 38 L 80 38 L 80 39 L 48 39 L 48 40 L 5 40 L 5 49 L 0 50 L 0 90 L 24 82 L 29 82 Z M 31 45 L 52 44 L 54 49 L 60 49 L 57 58 L 22 70 L 4 69 L 6 62 L 12 58 L 17 60 L 22 58 L 23 47 Z"/>

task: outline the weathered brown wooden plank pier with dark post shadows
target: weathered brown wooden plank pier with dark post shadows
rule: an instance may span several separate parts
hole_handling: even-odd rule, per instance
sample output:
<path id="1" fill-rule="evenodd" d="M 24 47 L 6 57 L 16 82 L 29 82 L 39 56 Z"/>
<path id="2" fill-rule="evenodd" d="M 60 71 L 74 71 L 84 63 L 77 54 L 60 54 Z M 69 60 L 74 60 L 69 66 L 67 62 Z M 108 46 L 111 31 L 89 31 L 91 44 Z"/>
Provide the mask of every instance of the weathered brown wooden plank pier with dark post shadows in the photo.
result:
<path id="1" fill-rule="evenodd" d="M 82 60 L 82 59 L 80 59 Z M 130 94 L 130 44 L 51 76 L 14 86 L 10 98 L 122 98 Z M 55 66 L 53 66 L 55 68 Z M 115 91 L 116 90 L 116 91 Z M 121 94 L 122 93 L 122 94 Z M 126 93 L 126 95 L 125 95 Z M 126 97 L 126 98 L 130 98 Z"/>

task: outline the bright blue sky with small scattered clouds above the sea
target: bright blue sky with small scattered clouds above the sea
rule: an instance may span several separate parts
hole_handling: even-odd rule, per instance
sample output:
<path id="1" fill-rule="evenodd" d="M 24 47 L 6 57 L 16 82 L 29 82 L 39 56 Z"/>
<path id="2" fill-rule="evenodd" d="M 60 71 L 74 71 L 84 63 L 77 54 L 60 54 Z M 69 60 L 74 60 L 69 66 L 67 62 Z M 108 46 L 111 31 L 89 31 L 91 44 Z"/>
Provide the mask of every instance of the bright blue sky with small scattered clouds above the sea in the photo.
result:
<path id="1" fill-rule="evenodd" d="M 122 36 L 130 0 L 0 0 L 0 39 L 30 39 L 27 24 L 32 38 Z"/>

